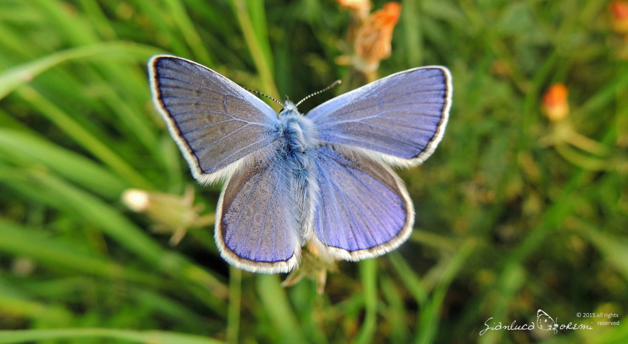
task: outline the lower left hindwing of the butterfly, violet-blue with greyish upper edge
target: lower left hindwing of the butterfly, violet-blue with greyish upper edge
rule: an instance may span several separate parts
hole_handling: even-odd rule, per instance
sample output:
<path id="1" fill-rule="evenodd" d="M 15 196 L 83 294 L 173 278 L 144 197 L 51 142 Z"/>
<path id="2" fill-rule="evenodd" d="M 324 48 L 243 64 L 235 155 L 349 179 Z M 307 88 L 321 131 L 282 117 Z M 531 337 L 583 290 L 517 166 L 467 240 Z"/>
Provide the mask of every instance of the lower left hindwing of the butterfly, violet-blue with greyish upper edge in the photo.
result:
<path id="1" fill-rule="evenodd" d="M 229 178 L 214 231 L 225 261 L 266 274 L 289 272 L 298 264 L 301 242 L 292 178 L 279 154 L 246 163 Z"/>

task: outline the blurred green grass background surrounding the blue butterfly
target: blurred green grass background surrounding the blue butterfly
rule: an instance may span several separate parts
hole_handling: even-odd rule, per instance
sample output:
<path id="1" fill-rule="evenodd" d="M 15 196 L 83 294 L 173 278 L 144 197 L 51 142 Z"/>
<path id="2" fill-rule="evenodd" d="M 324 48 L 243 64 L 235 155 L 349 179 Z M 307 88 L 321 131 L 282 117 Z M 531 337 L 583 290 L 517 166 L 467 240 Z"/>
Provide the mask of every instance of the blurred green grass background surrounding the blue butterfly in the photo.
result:
<path id="1" fill-rule="evenodd" d="M 411 239 L 340 262 L 322 295 L 220 259 L 196 214 L 221 185 L 193 181 L 146 60 L 291 99 L 345 81 L 306 112 L 359 83 L 336 63 L 350 20 L 331 0 L 1 0 L 0 343 L 627 343 L 628 40 L 607 1 L 403 1 L 379 77 L 445 65 L 454 87 L 435 154 L 399 169 Z M 555 82 L 560 122 L 541 113 Z M 592 329 L 479 335 L 538 309 Z"/>

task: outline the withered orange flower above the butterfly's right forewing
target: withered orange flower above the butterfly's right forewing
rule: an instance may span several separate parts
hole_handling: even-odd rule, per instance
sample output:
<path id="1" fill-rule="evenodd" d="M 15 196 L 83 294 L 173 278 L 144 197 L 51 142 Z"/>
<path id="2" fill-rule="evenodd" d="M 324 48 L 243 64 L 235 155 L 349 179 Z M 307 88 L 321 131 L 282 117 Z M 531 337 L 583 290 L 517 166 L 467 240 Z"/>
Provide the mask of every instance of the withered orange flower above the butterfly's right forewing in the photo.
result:
<path id="1" fill-rule="evenodd" d="M 366 19 L 355 35 L 354 49 L 359 58 L 356 68 L 362 72 L 372 72 L 379 62 L 391 55 L 391 40 L 394 26 L 399 21 L 401 4 L 386 3 Z"/>

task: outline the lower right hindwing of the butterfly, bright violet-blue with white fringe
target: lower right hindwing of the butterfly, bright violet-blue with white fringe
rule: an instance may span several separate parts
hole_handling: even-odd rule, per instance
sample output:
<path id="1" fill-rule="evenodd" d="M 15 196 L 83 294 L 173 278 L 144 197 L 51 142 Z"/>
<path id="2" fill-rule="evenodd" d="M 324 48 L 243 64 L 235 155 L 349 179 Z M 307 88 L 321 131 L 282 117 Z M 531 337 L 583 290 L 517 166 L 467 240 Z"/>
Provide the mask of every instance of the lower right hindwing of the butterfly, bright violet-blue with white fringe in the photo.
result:
<path id="1" fill-rule="evenodd" d="M 348 261 L 377 257 L 408 239 L 414 208 L 399 177 L 351 151 L 320 147 L 314 158 L 320 196 L 313 243 Z"/>

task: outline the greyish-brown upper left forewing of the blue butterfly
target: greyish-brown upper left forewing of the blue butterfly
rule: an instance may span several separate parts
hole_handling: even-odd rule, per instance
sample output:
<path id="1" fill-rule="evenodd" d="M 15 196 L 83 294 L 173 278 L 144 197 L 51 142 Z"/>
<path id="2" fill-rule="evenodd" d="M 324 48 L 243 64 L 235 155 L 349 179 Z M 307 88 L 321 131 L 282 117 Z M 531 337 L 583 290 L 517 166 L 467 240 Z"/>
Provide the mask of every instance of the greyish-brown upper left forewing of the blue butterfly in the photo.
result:
<path id="1" fill-rule="evenodd" d="M 271 107 L 228 78 L 176 56 L 148 62 L 153 102 L 200 183 L 230 175 L 278 139 Z"/>

